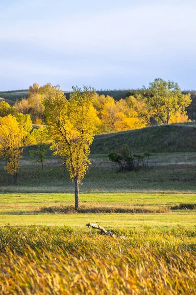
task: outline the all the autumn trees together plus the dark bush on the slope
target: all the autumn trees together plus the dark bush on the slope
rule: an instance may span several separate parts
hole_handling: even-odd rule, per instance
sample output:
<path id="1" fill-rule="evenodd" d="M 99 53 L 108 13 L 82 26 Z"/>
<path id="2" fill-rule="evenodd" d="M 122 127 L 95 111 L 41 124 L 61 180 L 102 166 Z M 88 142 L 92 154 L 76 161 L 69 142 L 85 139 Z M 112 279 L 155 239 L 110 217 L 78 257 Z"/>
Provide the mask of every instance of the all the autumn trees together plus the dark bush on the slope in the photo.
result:
<path id="1" fill-rule="evenodd" d="M 141 128 L 153 122 L 182 122 L 187 120 L 185 108 L 190 103 L 190 94 L 182 94 L 176 83 L 162 79 L 155 79 L 147 89 L 120 101 L 98 95 L 91 87 L 73 87 L 67 100 L 59 86 L 33 84 L 28 98 L 17 101 L 15 106 L 0 102 L 0 157 L 16 183 L 23 148 L 38 146 L 31 154 L 37 156 L 43 169 L 45 145 L 50 144 L 74 181 L 75 208 L 78 208 L 78 184 L 90 165 L 88 156 L 95 134 Z M 45 125 L 33 129 L 32 123 Z M 113 160 L 116 157 L 121 167 L 130 169 L 144 163 L 144 157 L 132 156 L 127 148 L 122 155 L 113 153 L 112 157 Z"/>

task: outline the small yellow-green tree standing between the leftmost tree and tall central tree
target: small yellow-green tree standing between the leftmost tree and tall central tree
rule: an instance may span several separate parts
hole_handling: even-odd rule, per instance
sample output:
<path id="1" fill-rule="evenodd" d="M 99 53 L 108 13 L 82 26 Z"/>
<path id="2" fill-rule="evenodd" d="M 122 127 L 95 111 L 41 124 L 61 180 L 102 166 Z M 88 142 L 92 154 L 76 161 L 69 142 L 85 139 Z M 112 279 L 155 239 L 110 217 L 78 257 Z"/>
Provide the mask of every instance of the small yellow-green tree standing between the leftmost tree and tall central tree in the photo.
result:
<path id="1" fill-rule="evenodd" d="M 29 150 L 29 154 L 31 156 L 36 157 L 36 162 L 40 162 L 42 165 L 42 171 L 44 170 L 44 162 L 45 162 L 45 154 L 46 154 L 46 147 L 48 138 L 46 127 L 40 126 L 39 129 L 34 129 L 31 133 L 32 136 L 32 143 L 37 146 L 36 150 Z"/>

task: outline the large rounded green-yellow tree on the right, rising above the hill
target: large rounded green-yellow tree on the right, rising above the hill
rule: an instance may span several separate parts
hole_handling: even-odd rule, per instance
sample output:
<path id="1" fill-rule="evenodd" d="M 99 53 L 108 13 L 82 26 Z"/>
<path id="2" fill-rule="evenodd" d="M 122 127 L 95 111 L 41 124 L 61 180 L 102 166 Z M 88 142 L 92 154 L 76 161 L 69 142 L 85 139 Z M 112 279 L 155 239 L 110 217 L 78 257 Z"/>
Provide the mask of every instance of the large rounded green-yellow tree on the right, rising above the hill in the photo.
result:
<path id="1" fill-rule="evenodd" d="M 185 108 L 190 105 L 191 96 L 182 94 L 177 83 L 155 79 L 142 94 L 126 97 L 126 102 L 147 125 L 151 125 L 151 120 L 158 124 L 180 123 L 188 118 Z"/>

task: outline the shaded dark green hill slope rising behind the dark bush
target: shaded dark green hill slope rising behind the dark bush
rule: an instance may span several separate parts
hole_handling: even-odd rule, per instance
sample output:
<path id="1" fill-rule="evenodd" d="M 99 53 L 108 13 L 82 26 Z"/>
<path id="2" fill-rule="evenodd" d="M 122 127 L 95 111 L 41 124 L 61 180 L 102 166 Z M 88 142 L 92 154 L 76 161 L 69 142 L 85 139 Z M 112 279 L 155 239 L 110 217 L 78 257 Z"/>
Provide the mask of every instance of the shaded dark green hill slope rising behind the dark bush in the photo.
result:
<path id="1" fill-rule="evenodd" d="M 95 136 L 91 153 L 108 153 L 127 144 L 133 152 L 195 152 L 196 123 L 147 127 Z"/>

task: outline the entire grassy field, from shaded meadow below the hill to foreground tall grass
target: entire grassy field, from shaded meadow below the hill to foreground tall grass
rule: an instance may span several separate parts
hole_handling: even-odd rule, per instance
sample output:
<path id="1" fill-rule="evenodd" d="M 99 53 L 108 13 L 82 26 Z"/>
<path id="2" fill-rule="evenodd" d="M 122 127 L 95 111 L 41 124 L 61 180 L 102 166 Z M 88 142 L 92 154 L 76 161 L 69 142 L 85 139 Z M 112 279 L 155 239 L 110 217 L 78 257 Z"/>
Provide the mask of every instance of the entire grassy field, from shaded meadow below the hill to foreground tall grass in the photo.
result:
<path id="1" fill-rule="evenodd" d="M 24 154 L 17 185 L 0 162 L 0 294 L 196 293 L 196 152 L 122 173 L 92 154 L 78 213 L 61 159 L 48 153 L 42 172 Z"/>

